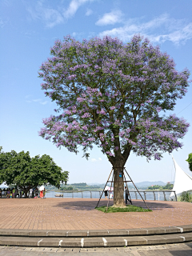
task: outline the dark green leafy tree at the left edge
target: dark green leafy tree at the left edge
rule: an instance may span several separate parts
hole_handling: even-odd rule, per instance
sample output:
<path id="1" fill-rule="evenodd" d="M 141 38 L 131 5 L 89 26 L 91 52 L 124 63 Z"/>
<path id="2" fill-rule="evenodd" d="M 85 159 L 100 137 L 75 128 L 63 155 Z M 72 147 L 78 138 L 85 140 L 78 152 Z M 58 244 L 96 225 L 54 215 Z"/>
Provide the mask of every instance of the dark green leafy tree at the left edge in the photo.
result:
<path id="1" fill-rule="evenodd" d="M 3 152 L 0 147 L 0 182 L 6 182 L 8 186 L 14 184 L 24 191 L 25 196 L 30 188 L 43 184 L 59 188 L 61 182 L 67 182 L 68 176 L 69 172 L 62 171 L 47 154 L 30 158 L 29 151 Z"/>

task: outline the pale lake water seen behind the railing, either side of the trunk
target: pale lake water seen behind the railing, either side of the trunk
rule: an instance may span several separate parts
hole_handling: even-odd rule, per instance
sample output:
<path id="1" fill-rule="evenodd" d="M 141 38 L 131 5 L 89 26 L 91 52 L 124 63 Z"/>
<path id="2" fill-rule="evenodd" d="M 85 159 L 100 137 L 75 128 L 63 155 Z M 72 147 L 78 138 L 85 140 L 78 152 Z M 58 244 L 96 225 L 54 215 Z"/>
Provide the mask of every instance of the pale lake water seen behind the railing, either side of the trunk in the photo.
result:
<path id="1" fill-rule="evenodd" d="M 155 191 L 153 192 L 145 192 L 144 190 L 139 190 L 140 194 L 142 195 L 142 198 L 145 200 L 155 200 L 164 201 L 164 194 L 162 191 Z M 145 194 L 146 197 L 145 197 Z M 57 198 L 55 197 L 55 194 L 63 194 L 63 198 L 100 198 L 102 191 L 70 191 L 70 192 L 56 192 L 56 191 L 48 191 L 46 192 L 46 198 Z M 166 200 L 170 200 L 170 192 L 165 192 Z M 137 198 L 136 198 L 137 197 Z M 105 198 L 104 194 L 102 194 L 102 198 Z M 130 198 L 131 199 L 142 199 L 141 196 L 138 194 L 138 192 L 134 192 L 130 190 Z M 174 198 L 175 200 L 175 198 Z"/>

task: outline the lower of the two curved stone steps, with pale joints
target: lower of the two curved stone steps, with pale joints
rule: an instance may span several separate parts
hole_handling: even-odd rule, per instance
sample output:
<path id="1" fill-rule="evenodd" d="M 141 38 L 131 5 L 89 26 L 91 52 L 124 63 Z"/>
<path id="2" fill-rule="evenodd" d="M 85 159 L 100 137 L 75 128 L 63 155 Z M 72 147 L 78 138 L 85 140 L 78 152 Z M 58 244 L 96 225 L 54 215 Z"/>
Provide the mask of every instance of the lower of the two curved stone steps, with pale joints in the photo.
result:
<path id="1" fill-rule="evenodd" d="M 192 241 L 192 233 L 166 234 L 134 237 L 98 238 L 30 238 L 0 237 L 1 246 L 42 246 L 42 247 L 112 247 L 146 246 Z"/>

